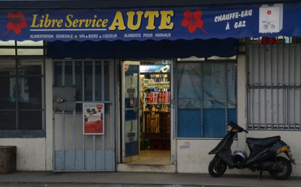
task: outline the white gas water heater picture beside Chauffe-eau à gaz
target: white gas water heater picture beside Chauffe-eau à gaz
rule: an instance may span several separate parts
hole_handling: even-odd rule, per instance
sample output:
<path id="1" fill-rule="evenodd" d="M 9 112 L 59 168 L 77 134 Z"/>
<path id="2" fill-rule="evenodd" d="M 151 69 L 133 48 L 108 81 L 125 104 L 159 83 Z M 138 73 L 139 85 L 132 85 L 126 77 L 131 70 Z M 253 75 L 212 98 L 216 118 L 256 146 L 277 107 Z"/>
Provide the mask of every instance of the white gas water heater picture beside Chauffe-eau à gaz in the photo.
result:
<path id="1" fill-rule="evenodd" d="M 282 29 L 283 4 L 262 5 L 259 8 L 259 33 L 277 33 Z"/>

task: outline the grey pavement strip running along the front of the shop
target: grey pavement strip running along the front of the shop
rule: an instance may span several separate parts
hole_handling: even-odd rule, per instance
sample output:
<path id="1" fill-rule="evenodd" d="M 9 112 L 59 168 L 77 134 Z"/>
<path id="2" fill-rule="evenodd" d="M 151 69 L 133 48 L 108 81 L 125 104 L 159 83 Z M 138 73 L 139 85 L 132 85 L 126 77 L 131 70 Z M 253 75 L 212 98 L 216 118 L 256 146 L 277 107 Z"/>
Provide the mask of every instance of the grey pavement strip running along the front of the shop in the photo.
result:
<path id="1" fill-rule="evenodd" d="M 269 175 L 263 175 L 258 180 L 257 175 L 232 174 L 212 177 L 209 174 L 199 173 L 15 171 L 9 174 L 0 174 L 0 184 L 6 182 L 280 187 L 300 186 L 301 177 L 290 176 L 286 180 L 275 180 Z"/>

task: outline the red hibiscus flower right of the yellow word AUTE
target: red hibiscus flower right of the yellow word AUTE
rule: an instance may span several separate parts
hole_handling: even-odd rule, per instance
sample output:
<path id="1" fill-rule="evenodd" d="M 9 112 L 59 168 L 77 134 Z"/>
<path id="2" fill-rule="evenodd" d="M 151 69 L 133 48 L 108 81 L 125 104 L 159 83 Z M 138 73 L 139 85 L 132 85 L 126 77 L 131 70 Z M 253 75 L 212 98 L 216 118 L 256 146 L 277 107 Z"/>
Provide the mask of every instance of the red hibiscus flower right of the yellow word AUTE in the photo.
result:
<path id="1" fill-rule="evenodd" d="M 194 13 L 191 11 L 185 11 L 184 12 L 184 19 L 182 20 L 181 25 L 183 27 L 188 27 L 188 30 L 190 33 L 193 33 L 197 30 L 197 27 L 202 29 L 204 33 L 208 34 L 204 29 L 203 29 L 203 21 L 201 20 L 202 18 L 202 11 L 196 10 Z"/>

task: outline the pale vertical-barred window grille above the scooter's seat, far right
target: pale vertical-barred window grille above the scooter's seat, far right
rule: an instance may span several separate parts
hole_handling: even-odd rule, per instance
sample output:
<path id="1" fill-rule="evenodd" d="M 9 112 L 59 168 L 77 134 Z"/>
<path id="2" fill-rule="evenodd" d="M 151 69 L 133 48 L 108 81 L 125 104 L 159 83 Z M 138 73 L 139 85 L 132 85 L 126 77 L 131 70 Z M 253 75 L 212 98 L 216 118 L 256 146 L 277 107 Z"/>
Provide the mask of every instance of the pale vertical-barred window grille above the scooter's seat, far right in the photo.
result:
<path id="1" fill-rule="evenodd" d="M 251 38 L 247 58 L 247 127 L 300 130 L 299 37 Z"/>

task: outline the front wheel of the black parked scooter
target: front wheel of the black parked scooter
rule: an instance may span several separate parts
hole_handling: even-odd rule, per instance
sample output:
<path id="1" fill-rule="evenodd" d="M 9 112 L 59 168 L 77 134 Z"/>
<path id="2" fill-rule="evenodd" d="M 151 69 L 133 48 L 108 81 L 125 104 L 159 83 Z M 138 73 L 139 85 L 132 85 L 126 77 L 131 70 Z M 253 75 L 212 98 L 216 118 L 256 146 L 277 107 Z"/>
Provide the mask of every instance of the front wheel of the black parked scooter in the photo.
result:
<path id="1" fill-rule="evenodd" d="M 222 176 L 227 170 L 227 164 L 220 158 L 214 157 L 208 166 L 208 171 L 211 176 L 218 177 Z"/>

